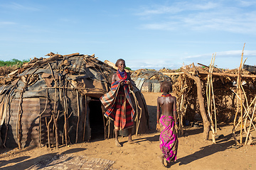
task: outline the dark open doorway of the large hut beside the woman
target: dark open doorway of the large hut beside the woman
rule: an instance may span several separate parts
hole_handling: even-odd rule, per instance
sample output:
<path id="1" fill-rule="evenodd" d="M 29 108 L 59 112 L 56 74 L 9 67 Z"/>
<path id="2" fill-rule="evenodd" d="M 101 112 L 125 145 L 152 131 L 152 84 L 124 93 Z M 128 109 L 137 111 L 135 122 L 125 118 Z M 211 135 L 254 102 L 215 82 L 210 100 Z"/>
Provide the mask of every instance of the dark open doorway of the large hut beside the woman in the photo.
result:
<path id="1" fill-rule="evenodd" d="M 104 140 L 104 120 L 102 115 L 102 103 L 99 98 L 92 98 L 89 102 L 90 108 L 90 128 L 91 140 L 100 139 Z M 105 118 L 104 118 L 105 119 Z"/>

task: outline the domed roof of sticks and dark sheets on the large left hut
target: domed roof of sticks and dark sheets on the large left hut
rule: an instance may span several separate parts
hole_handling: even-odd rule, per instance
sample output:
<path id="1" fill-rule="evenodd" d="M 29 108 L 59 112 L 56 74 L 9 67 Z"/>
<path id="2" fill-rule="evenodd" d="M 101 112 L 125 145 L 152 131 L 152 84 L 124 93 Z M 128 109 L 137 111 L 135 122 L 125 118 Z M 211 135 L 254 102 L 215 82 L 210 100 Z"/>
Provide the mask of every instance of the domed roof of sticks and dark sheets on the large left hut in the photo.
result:
<path id="1" fill-rule="evenodd" d="M 46 89 L 53 88 L 53 81 L 60 81 L 63 76 L 72 82 L 71 85 L 73 86 L 70 86 L 70 88 L 83 91 L 87 96 L 99 98 L 110 90 L 107 86 L 107 84 L 111 84 L 110 74 L 116 71 L 108 64 L 97 60 L 95 55 L 79 55 L 79 53 L 55 55 L 51 52 L 48 56 L 50 57 L 34 58 L 31 62 L 23 64 L 21 68 L 8 74 L 7 77 L 2 77 L 0 79 L 1 90 L 14 85 L 18 79 L 21 79 L 23 83 L 26 83 L 27 88 L 32 84 L 38 84 L 38 94 L 34 95 L 38 97 L 45 96 Z M 58 72 L 53 73 L 53 70 L 58 70 Z M 43 78 L 42 80 L 46 84 L 37 82 L 38 77 Z M 80 82 L 80 79 L 82 79 L 82 82 Z M 23 86 L 18 84 L 17 89 L 21 90 L 22 88 Z"/>

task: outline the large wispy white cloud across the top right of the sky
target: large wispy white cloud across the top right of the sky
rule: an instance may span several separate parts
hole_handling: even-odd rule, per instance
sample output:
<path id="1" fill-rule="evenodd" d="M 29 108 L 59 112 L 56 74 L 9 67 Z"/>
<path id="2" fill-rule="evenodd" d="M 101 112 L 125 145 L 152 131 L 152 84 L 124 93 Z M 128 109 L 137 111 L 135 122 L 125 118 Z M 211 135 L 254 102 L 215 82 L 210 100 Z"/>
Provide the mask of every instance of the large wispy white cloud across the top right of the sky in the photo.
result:
<path id="1" fill-rule="evenodd" d="M 175 29 L 256 34 L 254 5 L 252 1 L 183 1 L 143 7 L 137 15 L 152 18 L 153 23 L 147 20 L 149 23 L 142 23 L 142 29 L 174 30 L 173 26 L 177 26 Z M 156 18 L 159 22 L 155 22 Z"/>

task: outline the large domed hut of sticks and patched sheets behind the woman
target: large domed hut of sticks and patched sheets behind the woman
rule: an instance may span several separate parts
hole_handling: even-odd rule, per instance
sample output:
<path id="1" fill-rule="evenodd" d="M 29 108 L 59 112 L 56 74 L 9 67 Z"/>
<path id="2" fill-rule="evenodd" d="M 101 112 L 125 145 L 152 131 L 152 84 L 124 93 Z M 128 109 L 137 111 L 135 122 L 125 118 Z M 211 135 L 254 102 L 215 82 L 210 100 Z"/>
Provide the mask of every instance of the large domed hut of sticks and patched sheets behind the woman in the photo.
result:
<path id="1" fill-rule="evenodd" d="M 33 59 L 0 79 L 0 144 L 4 147 L 69 145 L 112 137 L 99 98 L 110 91 L 116 69 L 94 55 L 58 55 Z M 146 102 L 131 91 L 134 134 L 148 128 Z"/>

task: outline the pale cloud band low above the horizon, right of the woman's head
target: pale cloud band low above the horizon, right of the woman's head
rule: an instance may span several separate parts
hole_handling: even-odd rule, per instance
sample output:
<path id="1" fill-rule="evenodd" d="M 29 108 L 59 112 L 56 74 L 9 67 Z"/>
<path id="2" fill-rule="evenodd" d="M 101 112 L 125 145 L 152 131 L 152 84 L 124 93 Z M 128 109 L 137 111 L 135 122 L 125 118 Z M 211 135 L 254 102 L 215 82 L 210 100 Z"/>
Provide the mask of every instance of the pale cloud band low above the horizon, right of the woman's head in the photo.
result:
<path id="1" fill-rule="evenodd" d="M 215 53 L 202 54 L 202 55 L 188 55 L 184 57 L 174 57 L 174 59 L 163 59 L 163 58 L 154 58 L 143 60 L 126 60 L 127 67 L 131 69 L 162 69 L 163 67 L 168 69 L 178 69 L 188 64 L 210 64 L 211 57 L 215 55 Z M 216 52 L 215 55 L 215 65 L 219 68 L 229 68 L 234 69 L 239 67 L 240 58 L 242 55 L 242 50 L 230 50 L 223 52 Z M 247 57 L 247 63 L 255 63 L 256 62 L 256 50 L 245 50 L 243 60 Z"/>

